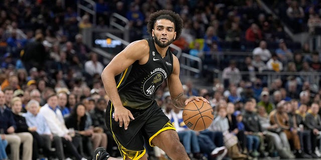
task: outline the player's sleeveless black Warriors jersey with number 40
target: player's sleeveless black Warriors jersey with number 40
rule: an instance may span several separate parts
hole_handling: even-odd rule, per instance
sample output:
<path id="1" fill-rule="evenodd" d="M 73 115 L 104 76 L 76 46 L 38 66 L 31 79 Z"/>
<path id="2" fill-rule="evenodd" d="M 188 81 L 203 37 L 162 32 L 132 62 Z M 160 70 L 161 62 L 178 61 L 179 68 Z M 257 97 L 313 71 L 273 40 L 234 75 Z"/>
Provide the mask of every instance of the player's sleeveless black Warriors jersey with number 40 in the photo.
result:
<path id="1" fill-rule="evenodd" d="M 117 83 L 123 106 L 147 108 L 154 101 L 155 91 L 173 72 L 173 55 L 170 49 L 163 58 L 155 48 L 153 38 L 145 39 L 149 45 L 149 58 L 145 64 L 136 60 L 121 73 Z"/>

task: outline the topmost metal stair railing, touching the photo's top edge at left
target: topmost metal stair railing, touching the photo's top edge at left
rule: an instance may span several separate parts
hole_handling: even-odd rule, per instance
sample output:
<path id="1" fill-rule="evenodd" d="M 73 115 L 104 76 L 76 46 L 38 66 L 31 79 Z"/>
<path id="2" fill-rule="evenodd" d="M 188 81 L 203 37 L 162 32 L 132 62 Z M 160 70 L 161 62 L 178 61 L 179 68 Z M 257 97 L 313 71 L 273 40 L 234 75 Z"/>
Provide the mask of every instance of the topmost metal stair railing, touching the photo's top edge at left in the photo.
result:
<path id="1" fill-rule="evenodd" d="M 83 3 L 83 4 L 82 4 Z M 84 5 L 86 4 L 87 5 Z M 89 6 L 91 5 L 91 6 Z M 77 0 L 77 15 L 78 15 L 78 19 L 81 19 L 81 10 L 84 10 L 86 12 L 88 12 L 89 14 L 92 15 L 92 20 L 93 20 L 93 25 L 96 25 L 96 2 L 93 0 Z"/>

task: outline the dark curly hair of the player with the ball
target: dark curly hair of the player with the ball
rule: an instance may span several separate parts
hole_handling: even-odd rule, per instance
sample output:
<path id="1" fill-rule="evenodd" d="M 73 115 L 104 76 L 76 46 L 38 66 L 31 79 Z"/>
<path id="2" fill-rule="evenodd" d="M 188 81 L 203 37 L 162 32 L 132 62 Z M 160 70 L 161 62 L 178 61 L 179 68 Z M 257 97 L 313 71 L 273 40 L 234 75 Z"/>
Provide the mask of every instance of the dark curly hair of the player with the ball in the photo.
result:
<path id="1" fill-rule="evenodd" d="M 149 15 L 147 31 L 150 35 L 152 29 L 154 28 L 155 21 L 158 19 L 168 19 L 174 23 L 174 29 L 176 31 L 176 38 L 174 40 L 178 39 L 181 36 L 183 29 L 183 19 L 181 18 L 180 14 L 175 13 L 172 10 L 158 10 Z"/>

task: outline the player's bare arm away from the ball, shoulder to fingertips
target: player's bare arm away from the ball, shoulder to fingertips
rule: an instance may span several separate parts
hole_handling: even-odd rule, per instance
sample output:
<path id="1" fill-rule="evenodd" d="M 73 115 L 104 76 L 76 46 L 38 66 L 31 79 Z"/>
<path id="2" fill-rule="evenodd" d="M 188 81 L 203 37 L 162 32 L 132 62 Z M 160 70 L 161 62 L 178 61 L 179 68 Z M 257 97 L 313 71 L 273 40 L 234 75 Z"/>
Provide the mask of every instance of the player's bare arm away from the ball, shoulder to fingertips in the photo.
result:
<path id="1" fill-rule="evenodd" d="M 146 63 L 149 56 L 148 51 L 149 46 L 146 40 L 134 41 L 118 53 L 101 73 L 104 88 L 113 103 L 114 119 L 115 121 L 119 121 L 120 127 L 124 124 L 125 129 L 127 129 L 130 118 L 134 119 L 134 117 L 131 112 L 122 105 L 117 91 L 115 76 L 128 68 L 136 60 L 139 60 L 140 64 Z"/>

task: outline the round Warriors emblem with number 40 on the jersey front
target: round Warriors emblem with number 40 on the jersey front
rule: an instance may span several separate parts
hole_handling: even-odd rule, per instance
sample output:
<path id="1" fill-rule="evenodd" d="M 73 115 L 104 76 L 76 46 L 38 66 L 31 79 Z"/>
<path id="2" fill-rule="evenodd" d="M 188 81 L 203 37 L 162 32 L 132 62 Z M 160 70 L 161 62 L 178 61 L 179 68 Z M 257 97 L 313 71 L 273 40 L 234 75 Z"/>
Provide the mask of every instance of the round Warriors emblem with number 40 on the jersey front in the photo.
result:
<path id="1" fill-rule="evenodd" d="M 165 72 L 166 73 L 166 72 Z M 162 69 L 155 69 L 151 72 L 151 75 L 143 82 L 142 92 L 146 96 L 152 95 L 155 90 L 161 85 L 166 79 L 167 74 L 163 74 Z"/>

